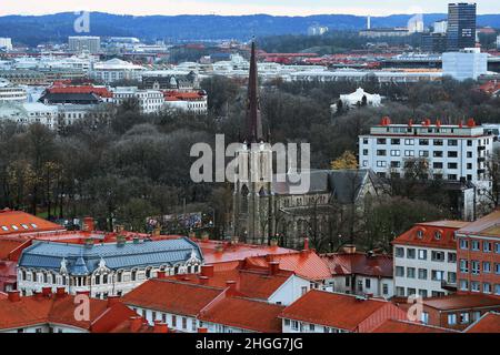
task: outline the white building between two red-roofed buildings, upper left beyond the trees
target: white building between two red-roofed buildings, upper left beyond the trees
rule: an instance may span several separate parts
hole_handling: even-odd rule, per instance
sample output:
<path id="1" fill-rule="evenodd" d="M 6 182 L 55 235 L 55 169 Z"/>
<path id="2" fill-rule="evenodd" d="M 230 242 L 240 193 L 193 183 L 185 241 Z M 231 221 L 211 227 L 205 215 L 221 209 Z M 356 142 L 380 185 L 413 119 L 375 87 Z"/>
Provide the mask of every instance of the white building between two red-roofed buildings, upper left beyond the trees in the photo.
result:
<path id="1" fill-rule="evenodd" d="M 113 102 L 121 104 L 126 100 L 137 99 L 142 113 L 158 113 L 164 104 L 163 93 L 159 90 L 140 90 L 137 87 L 112 89 Z"/>

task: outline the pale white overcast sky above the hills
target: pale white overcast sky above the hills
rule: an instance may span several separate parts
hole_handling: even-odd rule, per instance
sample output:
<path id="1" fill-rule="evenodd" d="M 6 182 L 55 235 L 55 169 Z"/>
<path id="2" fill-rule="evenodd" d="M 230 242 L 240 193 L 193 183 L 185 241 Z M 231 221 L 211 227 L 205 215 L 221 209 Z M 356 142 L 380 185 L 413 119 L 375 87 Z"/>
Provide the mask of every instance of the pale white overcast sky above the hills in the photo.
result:
<path id="1" fill-rule="evenodd" d="M 448 0 L 0 0 L 0 16 L 101 11 L 119 14 L 309 16 L 447 12 Z M 460 2 L 460 1 L 457 1 Z M 478 13 L 500 13 L 499 0 L 477 0 Z"/>

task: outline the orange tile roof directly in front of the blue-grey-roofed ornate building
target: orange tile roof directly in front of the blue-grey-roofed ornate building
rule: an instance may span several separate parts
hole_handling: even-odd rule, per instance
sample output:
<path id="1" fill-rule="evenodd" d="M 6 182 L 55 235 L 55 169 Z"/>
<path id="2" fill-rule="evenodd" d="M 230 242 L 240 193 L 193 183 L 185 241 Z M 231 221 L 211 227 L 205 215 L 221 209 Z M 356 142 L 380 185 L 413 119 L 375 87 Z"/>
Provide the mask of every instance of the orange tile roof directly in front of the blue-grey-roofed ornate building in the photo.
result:
<path id="1" fill-rule="evenodd" d="M 179 315 L 194 316 L 222 293 L 223 290 L 221 287 L 154 278 L 144 282 L 126 294 L 123 303 Z"/>

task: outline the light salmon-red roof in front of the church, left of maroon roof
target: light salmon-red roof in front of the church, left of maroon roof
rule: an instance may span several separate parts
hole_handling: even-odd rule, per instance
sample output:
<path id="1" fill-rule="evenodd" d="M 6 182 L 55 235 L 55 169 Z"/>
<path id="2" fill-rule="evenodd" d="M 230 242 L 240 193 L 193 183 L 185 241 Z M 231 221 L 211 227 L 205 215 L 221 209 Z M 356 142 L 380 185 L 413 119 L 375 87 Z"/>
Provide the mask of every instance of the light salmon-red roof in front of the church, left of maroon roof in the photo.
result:
<path id="1" fill-rule="evenodd" d="M 309 281 L 322 281 L 331 277 L 328 264 L 314 251 L 248 257 L 244 268 L 269 268 L 269 262 L 278 262 L 279 268 L 290 271 Z"/>

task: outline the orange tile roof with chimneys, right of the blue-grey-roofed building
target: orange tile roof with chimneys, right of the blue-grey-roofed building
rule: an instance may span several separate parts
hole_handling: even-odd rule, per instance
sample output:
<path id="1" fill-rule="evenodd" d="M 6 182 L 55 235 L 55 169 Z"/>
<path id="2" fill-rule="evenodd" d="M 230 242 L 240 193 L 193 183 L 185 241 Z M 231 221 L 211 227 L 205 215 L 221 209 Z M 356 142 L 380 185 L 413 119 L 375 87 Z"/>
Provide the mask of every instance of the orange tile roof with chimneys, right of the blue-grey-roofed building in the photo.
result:
<path id="1" fill-rule="evenodd" d="M 237 292 L 249 298 L 268 300 L 292 275 L 290 272 L 279 272 L 270 275 L 267 271 L 229 270 L 216 271 L 207 278 L 207 286 L 226 288 L 228 281 L 234 281 Z M 201 284 L 200 275 L 169 276 L 167 280 L 181 283 Z"/>

